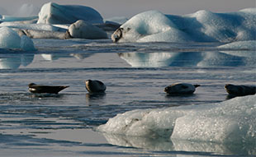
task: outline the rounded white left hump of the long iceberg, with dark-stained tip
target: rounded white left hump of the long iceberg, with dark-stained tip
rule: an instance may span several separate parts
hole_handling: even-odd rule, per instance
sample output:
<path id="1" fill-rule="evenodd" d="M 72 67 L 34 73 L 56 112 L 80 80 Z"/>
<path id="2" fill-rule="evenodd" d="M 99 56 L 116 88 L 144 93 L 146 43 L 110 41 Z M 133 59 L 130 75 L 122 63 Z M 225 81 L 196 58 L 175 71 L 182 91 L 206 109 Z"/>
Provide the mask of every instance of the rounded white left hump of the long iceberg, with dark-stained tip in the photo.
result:
<path id="1" fill-rule="evenodd" d="M 187 41 L 188 37 L 178 30 L 172 21 L 158 11 L 142 12 L 130 18 L 112 35 L 119 42 Z"/>

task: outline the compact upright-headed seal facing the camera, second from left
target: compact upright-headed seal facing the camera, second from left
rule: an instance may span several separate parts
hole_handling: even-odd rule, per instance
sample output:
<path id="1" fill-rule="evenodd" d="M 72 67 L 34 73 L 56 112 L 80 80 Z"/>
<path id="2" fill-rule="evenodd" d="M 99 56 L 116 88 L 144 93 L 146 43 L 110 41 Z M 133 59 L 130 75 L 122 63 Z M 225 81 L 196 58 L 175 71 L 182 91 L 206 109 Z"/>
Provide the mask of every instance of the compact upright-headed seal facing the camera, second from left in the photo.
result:
<path id="1" fill-rule="evenodd" d="M 106 85 L 102 81 L 97 80 L 87 80 L 85 81 L 85 88 L 89 93 L 104 93 Z"/>

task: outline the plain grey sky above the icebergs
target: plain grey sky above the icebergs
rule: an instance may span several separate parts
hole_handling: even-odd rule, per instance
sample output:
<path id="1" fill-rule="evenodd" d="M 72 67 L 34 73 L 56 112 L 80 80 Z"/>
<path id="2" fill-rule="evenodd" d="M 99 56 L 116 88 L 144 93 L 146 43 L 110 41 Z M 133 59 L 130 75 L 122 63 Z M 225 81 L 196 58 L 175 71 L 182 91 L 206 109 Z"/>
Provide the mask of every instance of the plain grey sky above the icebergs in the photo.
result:
<path id="1" fill-rule="evenodd" d="M 235 12 L 246 7 L 256 7 L 256 0 L 0 0 L 3 9 L 15 14 L 23 3 L 41 7 L 46 2 L 78 4 L 93 7 L 103 17 L 134 16 L 148 10 L 159 10 L 165 14 L 183 15 L 198 10 L 211 12 Z"/>

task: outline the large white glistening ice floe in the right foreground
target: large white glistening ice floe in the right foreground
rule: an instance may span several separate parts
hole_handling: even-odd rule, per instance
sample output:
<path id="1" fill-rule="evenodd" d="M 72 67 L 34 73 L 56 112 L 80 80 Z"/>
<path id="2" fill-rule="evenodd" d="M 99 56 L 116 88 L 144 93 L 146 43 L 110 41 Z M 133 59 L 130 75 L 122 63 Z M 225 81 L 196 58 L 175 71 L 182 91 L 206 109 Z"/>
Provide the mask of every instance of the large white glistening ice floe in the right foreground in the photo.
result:
<path id="1" fill-rule="evenodd" d="M 251 143 L 256 141 L 256 95 L 216 104 L 133 110 L 117 114 L 100 132 L 171 140 Z"/>

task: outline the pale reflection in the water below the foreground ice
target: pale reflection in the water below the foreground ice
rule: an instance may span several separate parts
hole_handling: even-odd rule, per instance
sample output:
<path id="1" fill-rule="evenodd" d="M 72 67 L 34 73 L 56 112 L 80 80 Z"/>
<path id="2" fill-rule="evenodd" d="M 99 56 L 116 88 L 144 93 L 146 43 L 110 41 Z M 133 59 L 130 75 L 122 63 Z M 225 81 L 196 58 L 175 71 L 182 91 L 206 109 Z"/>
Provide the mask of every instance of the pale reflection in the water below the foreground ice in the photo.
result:
<path id="1" fill-rule="evenodd" d="M 105 134 L 103 136 L 111 145 L 143 148 L 151 151 L 186 151 L 218 154 L 254 155 L 255 145 L 232 145 L 203 141 L 168 140 L 168 138 L 151 139 L 149 137 L 121 136 Z"/>

